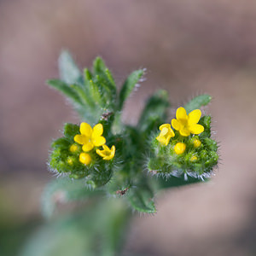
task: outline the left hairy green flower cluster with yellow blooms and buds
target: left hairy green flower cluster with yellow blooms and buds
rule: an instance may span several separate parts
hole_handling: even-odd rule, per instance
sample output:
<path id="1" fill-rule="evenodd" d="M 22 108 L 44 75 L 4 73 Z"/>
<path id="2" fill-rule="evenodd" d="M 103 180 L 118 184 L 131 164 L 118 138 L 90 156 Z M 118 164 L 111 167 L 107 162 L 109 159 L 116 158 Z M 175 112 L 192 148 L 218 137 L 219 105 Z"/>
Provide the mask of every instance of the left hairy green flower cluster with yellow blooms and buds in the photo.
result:
<path id="1" fill-rule="evenodd" d="M 115 146 L 108 148 L 102 134 L 102 124 L 93 128 L 84 122 L 80 125 L 66 124 L 64 137 L 51 145 L 53 151 L 49 156 L 50 169 L 67 173 L 74 178 L 94 176 L 98 168 L 106 173 L 106 170 L 111 172 Z"/>

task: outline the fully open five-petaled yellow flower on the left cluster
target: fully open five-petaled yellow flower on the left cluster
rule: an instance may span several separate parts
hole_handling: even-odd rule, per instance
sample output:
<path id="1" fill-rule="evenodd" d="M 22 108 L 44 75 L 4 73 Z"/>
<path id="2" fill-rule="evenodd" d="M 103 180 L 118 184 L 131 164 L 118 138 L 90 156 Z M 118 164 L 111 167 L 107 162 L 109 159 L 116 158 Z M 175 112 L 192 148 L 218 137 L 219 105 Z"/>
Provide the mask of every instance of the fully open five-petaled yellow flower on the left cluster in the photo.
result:
<path id="1" fill-rule="evenodd" d="M 81 123 L 80 133 L 77 134 L 73 140 L 76 143 L 83 145 L 84 152 L 90 151 L 94 147 L 100 147 L 106 143 L 106 139 L 102 137 L 103 126 L 102 124 L 97 124 L 93 127 L 90 127 L 87 123 Z"/>

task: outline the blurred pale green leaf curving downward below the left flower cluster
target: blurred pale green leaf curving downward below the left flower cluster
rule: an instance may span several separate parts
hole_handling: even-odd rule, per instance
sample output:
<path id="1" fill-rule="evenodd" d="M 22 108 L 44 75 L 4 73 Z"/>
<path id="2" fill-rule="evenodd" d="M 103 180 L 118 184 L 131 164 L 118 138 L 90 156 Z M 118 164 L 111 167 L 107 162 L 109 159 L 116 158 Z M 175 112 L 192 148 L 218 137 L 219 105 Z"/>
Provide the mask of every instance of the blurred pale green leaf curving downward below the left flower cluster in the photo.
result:
<path id="1" fill-rule="evenodd" d="M 45 218 L 51 217 L 59 201 L 80 201 L 98 194 L 102 194 L 102 191 L 88 189 L 84 179 L 57 178 L 44 189 L 42 198 L 43 215 Z"/>

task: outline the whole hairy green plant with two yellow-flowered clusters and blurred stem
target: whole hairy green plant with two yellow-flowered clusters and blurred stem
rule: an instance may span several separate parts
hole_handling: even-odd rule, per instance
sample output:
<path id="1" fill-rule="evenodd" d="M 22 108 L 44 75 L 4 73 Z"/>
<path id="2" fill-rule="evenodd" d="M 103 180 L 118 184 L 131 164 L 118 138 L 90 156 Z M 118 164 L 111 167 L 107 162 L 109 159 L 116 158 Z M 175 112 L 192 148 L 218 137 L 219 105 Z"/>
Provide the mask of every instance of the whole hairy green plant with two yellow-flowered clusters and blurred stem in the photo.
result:
<path id="1" fill-rule="evenodd" d="M 211 117 L 201 118 L 200 110 L 211 96 L 196 96 L 177 108 L 171 125 L 168 94 L 159 90 L 131 126 L 122 122 L 121 113 L 143 69 L 131 73 L 118 92 L 99 57 L 92 70 L 81 73 L 64 51 L 59 67 L 61 79 L 47 83 L 73 104 L 81 123 L 65 124 L 63 136 L 51 144 L 49 170 L 59 177 L 45 189 L 43 212 L 51 218 L 58 201 L 83 201 L 84 207 L 46 224 L 24 255 L 35 255 L 36 247 L 37 255 L 119 255 L 131 210 L 155 213 L 154 195 L 160 189 L 211 177 L 218 144 L 211 137 Z M 45 246 L 45 234 L 55 245 Z"/>

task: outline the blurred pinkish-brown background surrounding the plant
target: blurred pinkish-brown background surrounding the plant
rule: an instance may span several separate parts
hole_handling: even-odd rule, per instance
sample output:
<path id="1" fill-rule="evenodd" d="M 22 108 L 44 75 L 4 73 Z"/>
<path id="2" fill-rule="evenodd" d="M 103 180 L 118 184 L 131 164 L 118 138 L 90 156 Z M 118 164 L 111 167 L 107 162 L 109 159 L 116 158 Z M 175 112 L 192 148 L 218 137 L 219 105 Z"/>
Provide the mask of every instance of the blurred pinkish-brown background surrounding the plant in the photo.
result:
<path id="1" fill-rule="evenodd" d="M 125 251 L 142 255 L 256 255 L 256 2 L 244 0 L 0 0 L 0 250 L 16 255 L 43 222 L 40 195 L 52 175 L 52 138 L 79 119 L 45 80 L 61 49 L 79 67 L 101 55 L 120 85 L 143 82 L 125 108 L 135 124 L 157 89 L 176 108 L 213 100 L 221 162 L 210 183 L 158 195 L 158 213 L 137 216 Z"/>

